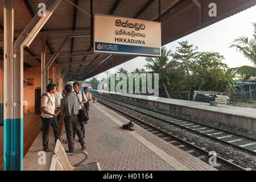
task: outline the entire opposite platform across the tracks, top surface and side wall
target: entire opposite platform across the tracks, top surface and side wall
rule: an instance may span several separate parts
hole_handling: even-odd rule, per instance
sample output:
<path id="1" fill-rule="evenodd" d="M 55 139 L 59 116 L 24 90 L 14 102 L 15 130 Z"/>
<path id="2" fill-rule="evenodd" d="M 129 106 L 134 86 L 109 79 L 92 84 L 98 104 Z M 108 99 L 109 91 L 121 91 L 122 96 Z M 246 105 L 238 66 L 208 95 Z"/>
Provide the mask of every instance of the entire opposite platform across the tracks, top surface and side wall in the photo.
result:
<path id="1" fill-rule="evenodd" d="M 181 117 L 193 119 L 214 126 L 225 126 L 235 132 L 242 130 L 256 136 L 256 109 L 218 104 L 176 100 L 172 98 L 143 96 L 108 91 L 90 90 L 92 93 L 104 93 L 120 100 L 131 101 L 134 104 L 150 107 Z"/>

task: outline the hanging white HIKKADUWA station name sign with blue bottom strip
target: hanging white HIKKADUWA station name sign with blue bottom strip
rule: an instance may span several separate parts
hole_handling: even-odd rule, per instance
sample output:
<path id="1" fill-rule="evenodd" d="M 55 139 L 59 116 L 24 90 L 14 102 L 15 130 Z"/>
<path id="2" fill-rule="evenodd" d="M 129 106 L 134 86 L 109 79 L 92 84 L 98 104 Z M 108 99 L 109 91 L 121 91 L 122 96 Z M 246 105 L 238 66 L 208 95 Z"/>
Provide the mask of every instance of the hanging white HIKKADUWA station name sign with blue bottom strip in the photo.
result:
<path id="1" fill-rule="evenodd" d="M 94 15 L 94 52 L 160 56 L 161 23 L 113 15 Z"/>

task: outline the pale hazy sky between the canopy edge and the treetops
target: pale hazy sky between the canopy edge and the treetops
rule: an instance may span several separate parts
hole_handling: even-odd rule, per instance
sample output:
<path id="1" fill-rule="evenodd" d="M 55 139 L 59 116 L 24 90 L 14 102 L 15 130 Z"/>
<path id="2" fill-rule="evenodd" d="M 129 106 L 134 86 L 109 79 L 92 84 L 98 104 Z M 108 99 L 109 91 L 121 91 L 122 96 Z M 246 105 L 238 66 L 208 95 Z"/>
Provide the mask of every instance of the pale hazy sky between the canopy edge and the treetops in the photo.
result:
<path id="1" fill-rule="evenodd" d="M 256 6 L 164 46 L 174 52 L 175 47 L 179 46 L 178 42 L 188 40 L 189 44 L 199 47 L 199 51 L 220 52 L 221 55 L 225 57 L 223 62 L 228 64 L 229 68 L 241 67 L 242 65 L 253 66 L 253 64 L 247 60 L 242 53 L 236 52 L 236 48 L 229 48 L 233 43 L 233 40 L 240 36 L 252 38 L 254 30 L 252 22 L 256 23 Z M 115 73 L 121 67 L 125 68 L 129 72 L 133 71 L 135 68 L 146 69 L 144 65 L 146 65 L 145 57 L 137 57 L 110 69 L 109 72 Z M 106 72 L 104 73 L 106 74 Z M 101 80 L 102 76 L 105 75 L 104 73 L 95 76 L 97 80 Z"/>

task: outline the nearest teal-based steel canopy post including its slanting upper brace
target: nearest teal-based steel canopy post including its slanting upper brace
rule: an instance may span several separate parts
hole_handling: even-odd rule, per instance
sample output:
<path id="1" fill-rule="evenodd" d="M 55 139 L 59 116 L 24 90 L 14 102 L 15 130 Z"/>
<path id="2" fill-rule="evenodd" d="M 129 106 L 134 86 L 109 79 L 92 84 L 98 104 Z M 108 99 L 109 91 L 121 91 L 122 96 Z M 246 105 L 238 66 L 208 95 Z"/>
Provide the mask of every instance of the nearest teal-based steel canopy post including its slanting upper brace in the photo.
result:
<path id="1" fill-rule="evenodd" d="M 36 14 L 14 43 L 14 0 L 4 1 L 3 169 L 7 171 L 23 170 L 23 49 L 61 1 L 48 0 L 45 16 Z"/>

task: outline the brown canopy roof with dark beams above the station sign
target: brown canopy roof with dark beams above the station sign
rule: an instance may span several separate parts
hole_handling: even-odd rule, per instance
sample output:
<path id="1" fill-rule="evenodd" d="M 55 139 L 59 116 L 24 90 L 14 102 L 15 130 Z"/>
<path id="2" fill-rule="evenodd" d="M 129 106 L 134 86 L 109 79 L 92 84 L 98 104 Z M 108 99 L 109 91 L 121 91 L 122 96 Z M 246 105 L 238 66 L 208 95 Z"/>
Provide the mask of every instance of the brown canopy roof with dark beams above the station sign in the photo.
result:
<path id="1" fill-rule="evenodd" d="M 159 0 L 70 0 L 89 14 L 113 14 L 158 21 Z M 91 11 L 91 3 L 93 9 Z M 14 36 L 27 26 L 47 0 L 14 0 Z M 198 3 L 196 3 L 198 2 Z M 210 17 L 209 3 L 216 3 L 217 17 Z M 256 0 L 161 0 L 162 45 L 191 34 L 230 15 L 256 5 Z M 24 68 L 41 64 L 42 35 L 46 35 L 46 60 L 63 45 L 55 60 L 69 68 L 66 78 L 90 78 L 135 56 L 92 53 L 90 16 L 63 0 L 30 47 L 24 48 Z M 69 36 L 71 36 L 69 38 Z M 3 56 L 3 1 L 0 1 L 0 57 Z M 46 61 L 46 62 L 47 62 Z"/>

